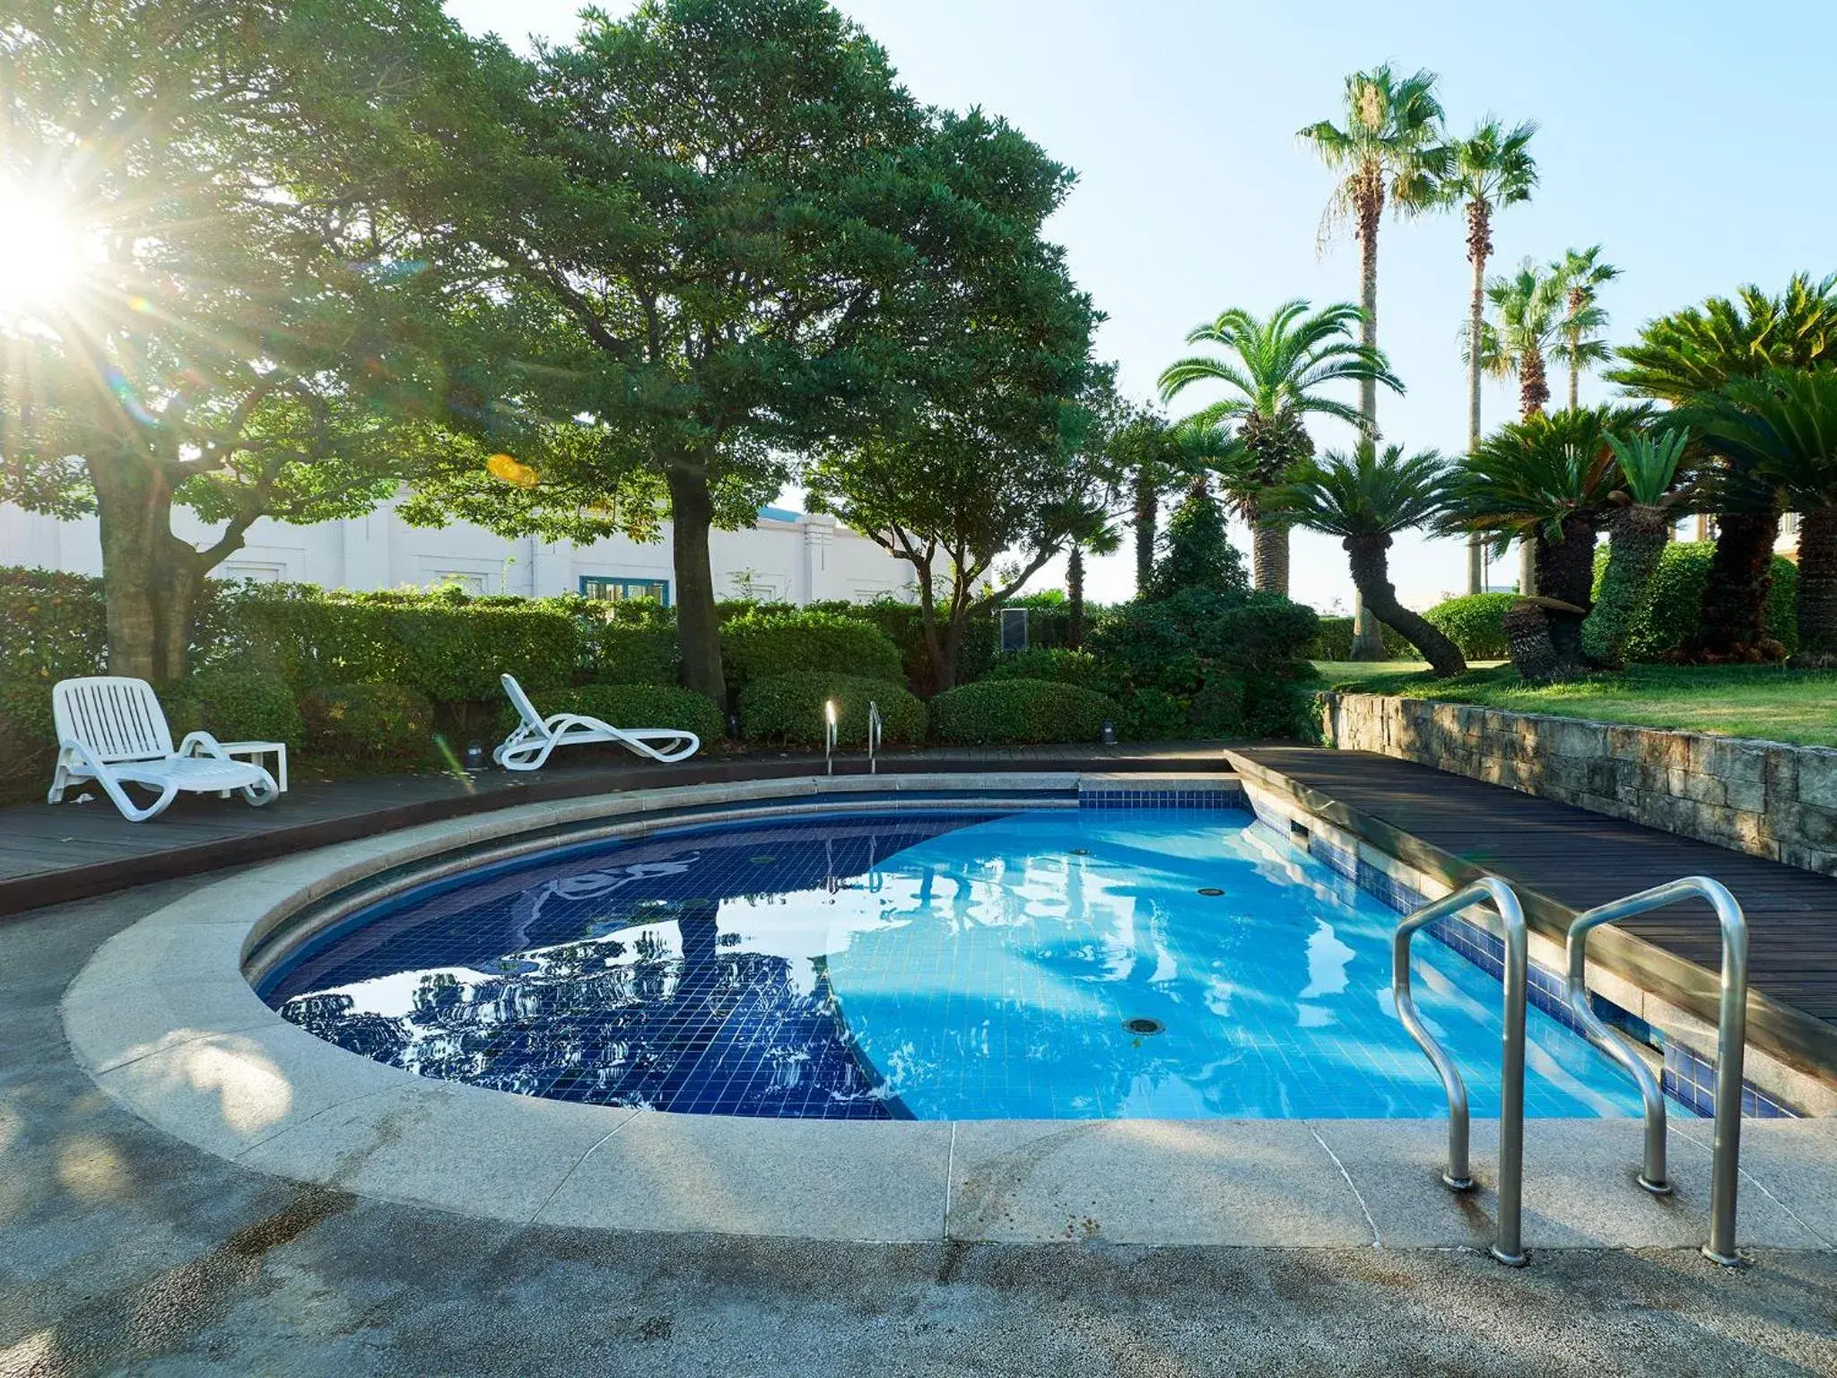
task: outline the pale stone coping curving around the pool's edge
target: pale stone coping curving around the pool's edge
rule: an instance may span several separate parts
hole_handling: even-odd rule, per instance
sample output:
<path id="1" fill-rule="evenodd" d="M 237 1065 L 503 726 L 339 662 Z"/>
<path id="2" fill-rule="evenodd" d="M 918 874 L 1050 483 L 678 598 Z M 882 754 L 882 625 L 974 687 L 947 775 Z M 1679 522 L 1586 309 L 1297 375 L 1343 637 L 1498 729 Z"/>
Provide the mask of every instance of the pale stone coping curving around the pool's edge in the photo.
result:
<path id="1" fill-rule="evenodd" d="M 948 785 L 907 775 L 891 788 L 931 796 Z M 1067 781 L 981 777 L 974 796 L 1029 785 L 1064 792 Z M 408 862 L 467 847 L 446 865 L 470 865 L 479 847 L 531 847 L 531 834 L 558 827 L 674 825 L 691 805 L 777 812 L 885 788 L 755 781 L 529 805 L 248 871 L 103 944 L 62 998 L 70 1049 L 103 1091 L 204 1152 L 483 1220 L 900 1244 L 1486 1244 L 1492 1123 L 1475 1128 L 1481 1189 L 1455 1196 L 1438 1183 L 1442 1119 L 847 1123 L 588 1106 L 426 1080 L 349 1053 L 268 1009 L 244 974 L 287 924 L 310 932 L 342 911 L 312 915 L 312 900 Z M 1527 1246 L 1701 1240 L 1708 1124 L 1674 1113 L 1677 1191 L 1664 1198 L 1635 1187 L 1639 1135 L 1637 1121 L 1530 1121 Z M 1749 1121 L 1743 1139 L 1740 1242 L 1837 1244 L 1837 1121 Z"/>

